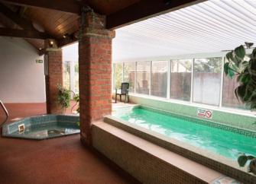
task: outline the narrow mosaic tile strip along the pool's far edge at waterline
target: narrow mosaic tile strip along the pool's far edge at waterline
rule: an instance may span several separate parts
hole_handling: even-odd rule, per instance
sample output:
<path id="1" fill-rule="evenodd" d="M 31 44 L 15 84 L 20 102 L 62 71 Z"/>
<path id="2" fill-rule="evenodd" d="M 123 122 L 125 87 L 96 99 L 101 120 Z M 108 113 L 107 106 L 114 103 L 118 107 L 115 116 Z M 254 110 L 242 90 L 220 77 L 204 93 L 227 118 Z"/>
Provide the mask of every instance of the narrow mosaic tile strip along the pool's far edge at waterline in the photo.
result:
<path id="1" fill-rule="evenodd" d="M 160 109 L 154 109 L 152 107 L 148 107 L 148 106 L 134 106 L 134 108 L 141 108 L 141 109 L 147 109 L 150 110 L 152 112 L 156 112 L 156 113 L 161 113 L 164 115 L 170 115 L 179 119 L 184 119 L 186 121 L 191 121 L 191 122 L 195 122 L 197 124 L 201 124 L 201 125 L 207 125 L 207 126 L 211 126 L 214 128 L 219 128 L 228 132 L 234 132 L 234 133 L 238 133 L 241 135 L 245 135 L 251 138 L 256 138 L 256 132 L 245 129 L 245 128 L 238 128 L 232 125 L 225 125 L 223 123 L 220 122 L 214 122 L 214 121 L 209 121 L 208 119 L 196 119 L 194 117 L 190 117 L 190 116 L 184 116 L 184 115 L 180 115 L 178 113 L 170 113 L 168 111 L 164 111 L 164 110 L 160 110 Z"/>

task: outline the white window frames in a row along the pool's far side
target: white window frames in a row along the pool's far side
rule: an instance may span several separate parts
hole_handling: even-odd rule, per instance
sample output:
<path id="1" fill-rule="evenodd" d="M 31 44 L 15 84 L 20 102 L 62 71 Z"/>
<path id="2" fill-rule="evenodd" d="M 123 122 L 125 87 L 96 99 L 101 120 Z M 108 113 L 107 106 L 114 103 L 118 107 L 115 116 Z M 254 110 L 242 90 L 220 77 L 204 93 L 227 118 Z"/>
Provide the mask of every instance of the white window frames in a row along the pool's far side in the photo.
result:
<path id="1" fill-rule="evenodd" d="M 134 74 L 134 93 L 130 93 L 131 96 L 136 97 L 147 97 L 149 99 L 156 99 L 156 100 L 164 100 L 170 103 L 179 103 L 187 106 L 196 106 L 199 108 L 207 108 L 207 109 L 217 109 L 222 112 L 227 113 L 237 113 L 244 116 L 252 116 L 254 113 L 252 113 L 250 110 L 247 109 L 235 109 L 231 107 L 225 107 L 222 106 L 222 96 L 223 96 L 223 80 L 224 80 L 224 62 L 225 62 L 225 54 L 226 52 L 213 52 L 213 53 L 203 53 L 203 54 L 192 54 L 192 55 L 186 55 L 186 56 L 164 56 L 164 57 L 158 57 L 158 58 L 145 58 L 145 59 L 131 59 L 122 61 L 123 63 L 123 72 L 124 72 L 124 63 L 125 62 L 135 62 L 135 74 Z M 219 106 L 204 104 L 204 103 L 195 103 L 193 102 L 193 78 L 194 78 L 194 63 L 195 59 L 202 59 L 202 58 L 222 58 L 222 68 L 221 68 L 221 80 L 220 80 L 220 91 L 219 91 Z M 184 101 L 184 100 L 177 100 L 170 98 L 170 73 L 171 73 L 171 60 L 178 60 L 178 59 L 192 59 L 192 65 L 191 65 L 191 88 L 190 88 L 190 101 Z M 138 62 L 151 62 L 151 71 L 150 71 L 150 93 L 149 94 L 138 94 L 137 93 L 137 64 Z M 154 61 L 167 61 L 167 97 L 155 97 L 151 95 L 151 72 L 152 72 L 152 62 Z M 119 62 L 115 62 L 119 63 Z M 115 64 L 114 63 L 114 64 Z M 113 65 L 114 66 L 114 65 Z M 114 83 L 114 74 L 112 75 L 112 83 Z M 123 76 L 123 74 L 122 74 Z"/>

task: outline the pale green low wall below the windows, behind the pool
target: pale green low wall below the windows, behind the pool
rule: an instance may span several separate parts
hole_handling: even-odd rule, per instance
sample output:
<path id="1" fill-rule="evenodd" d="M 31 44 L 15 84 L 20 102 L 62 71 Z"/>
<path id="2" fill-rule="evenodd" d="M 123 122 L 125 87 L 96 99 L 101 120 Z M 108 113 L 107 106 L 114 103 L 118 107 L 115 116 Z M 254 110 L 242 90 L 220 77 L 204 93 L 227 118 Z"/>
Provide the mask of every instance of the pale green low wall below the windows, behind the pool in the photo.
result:
<path id="1" fill-rule="evenodd" d="M 197 116 L 198 109 L 210 109 L 212 110 L 213 116 L 210 121 L 220 122 L 224 125 L 231 125 L 238 128 L 245 128 L 249 131 L 256 132 L 256 112 L 254 113 L 238 113 L 232 109 L 219 109 L 213 106 L 191 106 L 190 103 L 176 103 L 166 100 L 151 99 L 147 97 L 135 97 L 130 98 L 131 103 L 140 104 L 141 106 L 148 106 L 155 109 L 164 110 L 170 113 L 177 113 L 183 116 L 190 116 L 196 119 L 204 119 Z"/>

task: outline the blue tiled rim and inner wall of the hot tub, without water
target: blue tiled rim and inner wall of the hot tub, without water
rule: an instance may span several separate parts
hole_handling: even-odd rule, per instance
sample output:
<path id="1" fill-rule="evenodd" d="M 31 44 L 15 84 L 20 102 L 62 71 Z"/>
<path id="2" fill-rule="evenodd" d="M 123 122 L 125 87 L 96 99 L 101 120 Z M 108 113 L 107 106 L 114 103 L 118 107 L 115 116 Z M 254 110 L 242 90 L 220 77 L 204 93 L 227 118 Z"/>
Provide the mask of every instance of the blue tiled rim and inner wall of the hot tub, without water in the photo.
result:
<path id="1" fill-rule="evenodd" d="M 12 132 L 18 131 L 18 125 L 24 124 L 25 127 L 29 126 L 36 126 L 36 125 L 46 125 L 49 123 L 60 123 L 64 122 L 67 124 L 76 124 L 79 122 L 79 116 L 73 116 L 73 115 L 42 115 L 42 116 L 31 116 L 24 119 L 19 119 L 16 122 L 11 123 L 5 123 L 2 126 L 2 136 L 8 137 L 8 138 L 24 138 L 24 139 L 34 139 L 34 140 L 44 140 L 49 138 L 57 138 L 57 137 L 63 137 L 66 135 L 73 135 L 78 134 L 79 132 L 70 132 L 65 135 L 48 135 L 47 137 L 41 137 L 37 138 L 30 135 L 11 135 Z"/>

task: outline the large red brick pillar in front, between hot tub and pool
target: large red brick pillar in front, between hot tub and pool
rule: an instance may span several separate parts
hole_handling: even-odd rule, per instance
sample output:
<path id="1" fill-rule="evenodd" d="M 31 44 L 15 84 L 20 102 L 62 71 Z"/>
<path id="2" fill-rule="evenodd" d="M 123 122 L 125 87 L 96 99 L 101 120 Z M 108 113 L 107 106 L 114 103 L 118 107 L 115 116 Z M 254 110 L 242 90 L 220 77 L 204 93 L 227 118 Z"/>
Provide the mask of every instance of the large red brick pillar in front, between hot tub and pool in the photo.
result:
<path id="1" fill-rule="evenodd" d="M 94 21 L 93 21 L 94 20 Z M 91 124 L 112 112 L 112 38 L 105 16 L 86 14 L 79 40 L 79 97 L 81 141 L 91 144 Z"/>

